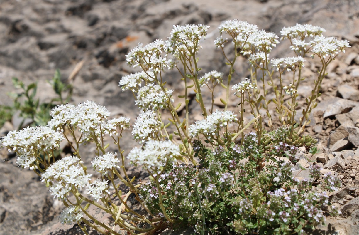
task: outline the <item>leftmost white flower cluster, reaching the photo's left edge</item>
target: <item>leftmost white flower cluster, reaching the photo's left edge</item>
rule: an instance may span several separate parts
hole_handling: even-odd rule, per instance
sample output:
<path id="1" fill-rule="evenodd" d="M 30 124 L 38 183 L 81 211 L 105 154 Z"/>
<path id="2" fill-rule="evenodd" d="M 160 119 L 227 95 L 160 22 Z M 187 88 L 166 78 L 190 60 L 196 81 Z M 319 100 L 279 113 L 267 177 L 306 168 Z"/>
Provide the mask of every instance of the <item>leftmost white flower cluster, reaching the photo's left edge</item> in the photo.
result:
<path id="1" fill-rule="evenodd" d="M 17 165 L 22 168 L 37 169 L 36 158 L 46 151 L 59 147 L 64 139 L 62 133 L 47 126 L 31 126 L 19 131 L 11 131 L 0 140 L 0 146 L 17 152 Z"/>

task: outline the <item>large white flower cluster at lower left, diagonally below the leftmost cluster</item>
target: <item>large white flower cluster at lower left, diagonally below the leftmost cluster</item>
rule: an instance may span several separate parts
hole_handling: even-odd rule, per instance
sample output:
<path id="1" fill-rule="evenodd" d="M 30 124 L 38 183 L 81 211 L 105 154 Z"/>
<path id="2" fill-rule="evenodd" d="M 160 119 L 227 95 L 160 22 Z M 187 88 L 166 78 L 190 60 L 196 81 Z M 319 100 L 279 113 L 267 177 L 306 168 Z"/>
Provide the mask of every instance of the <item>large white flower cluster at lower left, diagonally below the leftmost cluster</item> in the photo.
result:
<path id="1" fill-rule="evenodd" d="M 42 182 L 49 185 L 53 197 L 65 200 L 71 190 L 74 193 L 88 185 L 91 175 L 86 174 L 78 157 L 66 156 L 53 163 L 41 175 Z"/>

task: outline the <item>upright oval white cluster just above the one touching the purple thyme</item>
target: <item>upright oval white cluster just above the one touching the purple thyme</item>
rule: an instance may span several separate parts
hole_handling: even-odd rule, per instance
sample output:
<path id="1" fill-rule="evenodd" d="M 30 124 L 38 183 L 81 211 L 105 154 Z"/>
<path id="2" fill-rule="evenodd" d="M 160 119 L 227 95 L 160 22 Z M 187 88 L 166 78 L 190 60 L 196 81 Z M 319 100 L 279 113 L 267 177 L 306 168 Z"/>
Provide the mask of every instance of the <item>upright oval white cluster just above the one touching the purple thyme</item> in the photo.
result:
<path id="1" fill-rule="evenodd" d="M 141 111 L 135 120 L 135 124 L 132 125 L 132 135 L 134 135 L 136 141 L 141 139 L 139 144 L 146 140 L 155 139 L 159 132 L 160 124 L 153 111 Z"/>

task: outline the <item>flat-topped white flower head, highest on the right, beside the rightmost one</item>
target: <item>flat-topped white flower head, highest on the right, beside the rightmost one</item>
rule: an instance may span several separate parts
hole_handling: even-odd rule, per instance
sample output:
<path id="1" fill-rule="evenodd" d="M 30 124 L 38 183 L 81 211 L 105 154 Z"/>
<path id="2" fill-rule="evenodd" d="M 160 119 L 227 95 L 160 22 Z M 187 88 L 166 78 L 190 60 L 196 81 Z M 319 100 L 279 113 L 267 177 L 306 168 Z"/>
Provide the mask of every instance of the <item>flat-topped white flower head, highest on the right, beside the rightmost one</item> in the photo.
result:
<path id="1" fill-rule="evenodd" d="M 299 40 L 304 40 L 306 37 L 315 37 L 317 35 L 322 35 L 326 30 L 319 26 L 313 26 L 311 24 L 296 24 L 295 26 L 283 27 L 280 34 L 282 37 L 280 40 L 285 38 L 293 39 L 298 38 Z"/>

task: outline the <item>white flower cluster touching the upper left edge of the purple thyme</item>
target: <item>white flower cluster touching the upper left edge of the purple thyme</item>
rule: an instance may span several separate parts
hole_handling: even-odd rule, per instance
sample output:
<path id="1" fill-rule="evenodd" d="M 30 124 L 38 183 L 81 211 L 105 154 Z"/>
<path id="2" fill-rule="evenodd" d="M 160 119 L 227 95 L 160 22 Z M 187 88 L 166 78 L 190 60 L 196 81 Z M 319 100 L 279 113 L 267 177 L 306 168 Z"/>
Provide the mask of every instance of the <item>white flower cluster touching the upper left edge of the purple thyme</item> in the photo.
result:
<path id="1" fill-rule="evenodd" d="M 149 140 L 142 148 L 133 148 L 127 159 L 135 166 L 144 165 L 148 169 L 160 169 L 169 159 L 177 161 L 180 157 L 180 148 L 171 140 Z"/>

